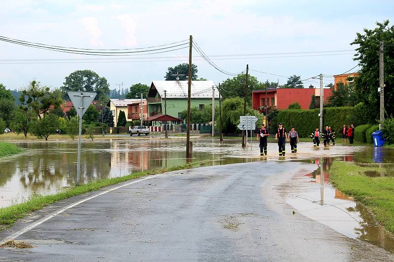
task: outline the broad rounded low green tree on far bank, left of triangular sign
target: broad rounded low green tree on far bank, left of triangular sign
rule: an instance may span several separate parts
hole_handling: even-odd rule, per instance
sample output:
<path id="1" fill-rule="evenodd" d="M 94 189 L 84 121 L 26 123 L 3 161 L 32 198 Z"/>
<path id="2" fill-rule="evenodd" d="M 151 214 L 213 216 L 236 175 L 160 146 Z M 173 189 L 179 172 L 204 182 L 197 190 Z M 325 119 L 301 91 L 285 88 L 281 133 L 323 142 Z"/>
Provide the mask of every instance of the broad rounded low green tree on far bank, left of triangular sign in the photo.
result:
<path id="1" fill-rule="evenodd" d="M 60 128 L 59 117 L 48 114 L 41 119 L 34 119 L 31 124 L 31 133 L 36 137 L 48 140 L 50 135 L 56 134 L 56 130 Z"/>

